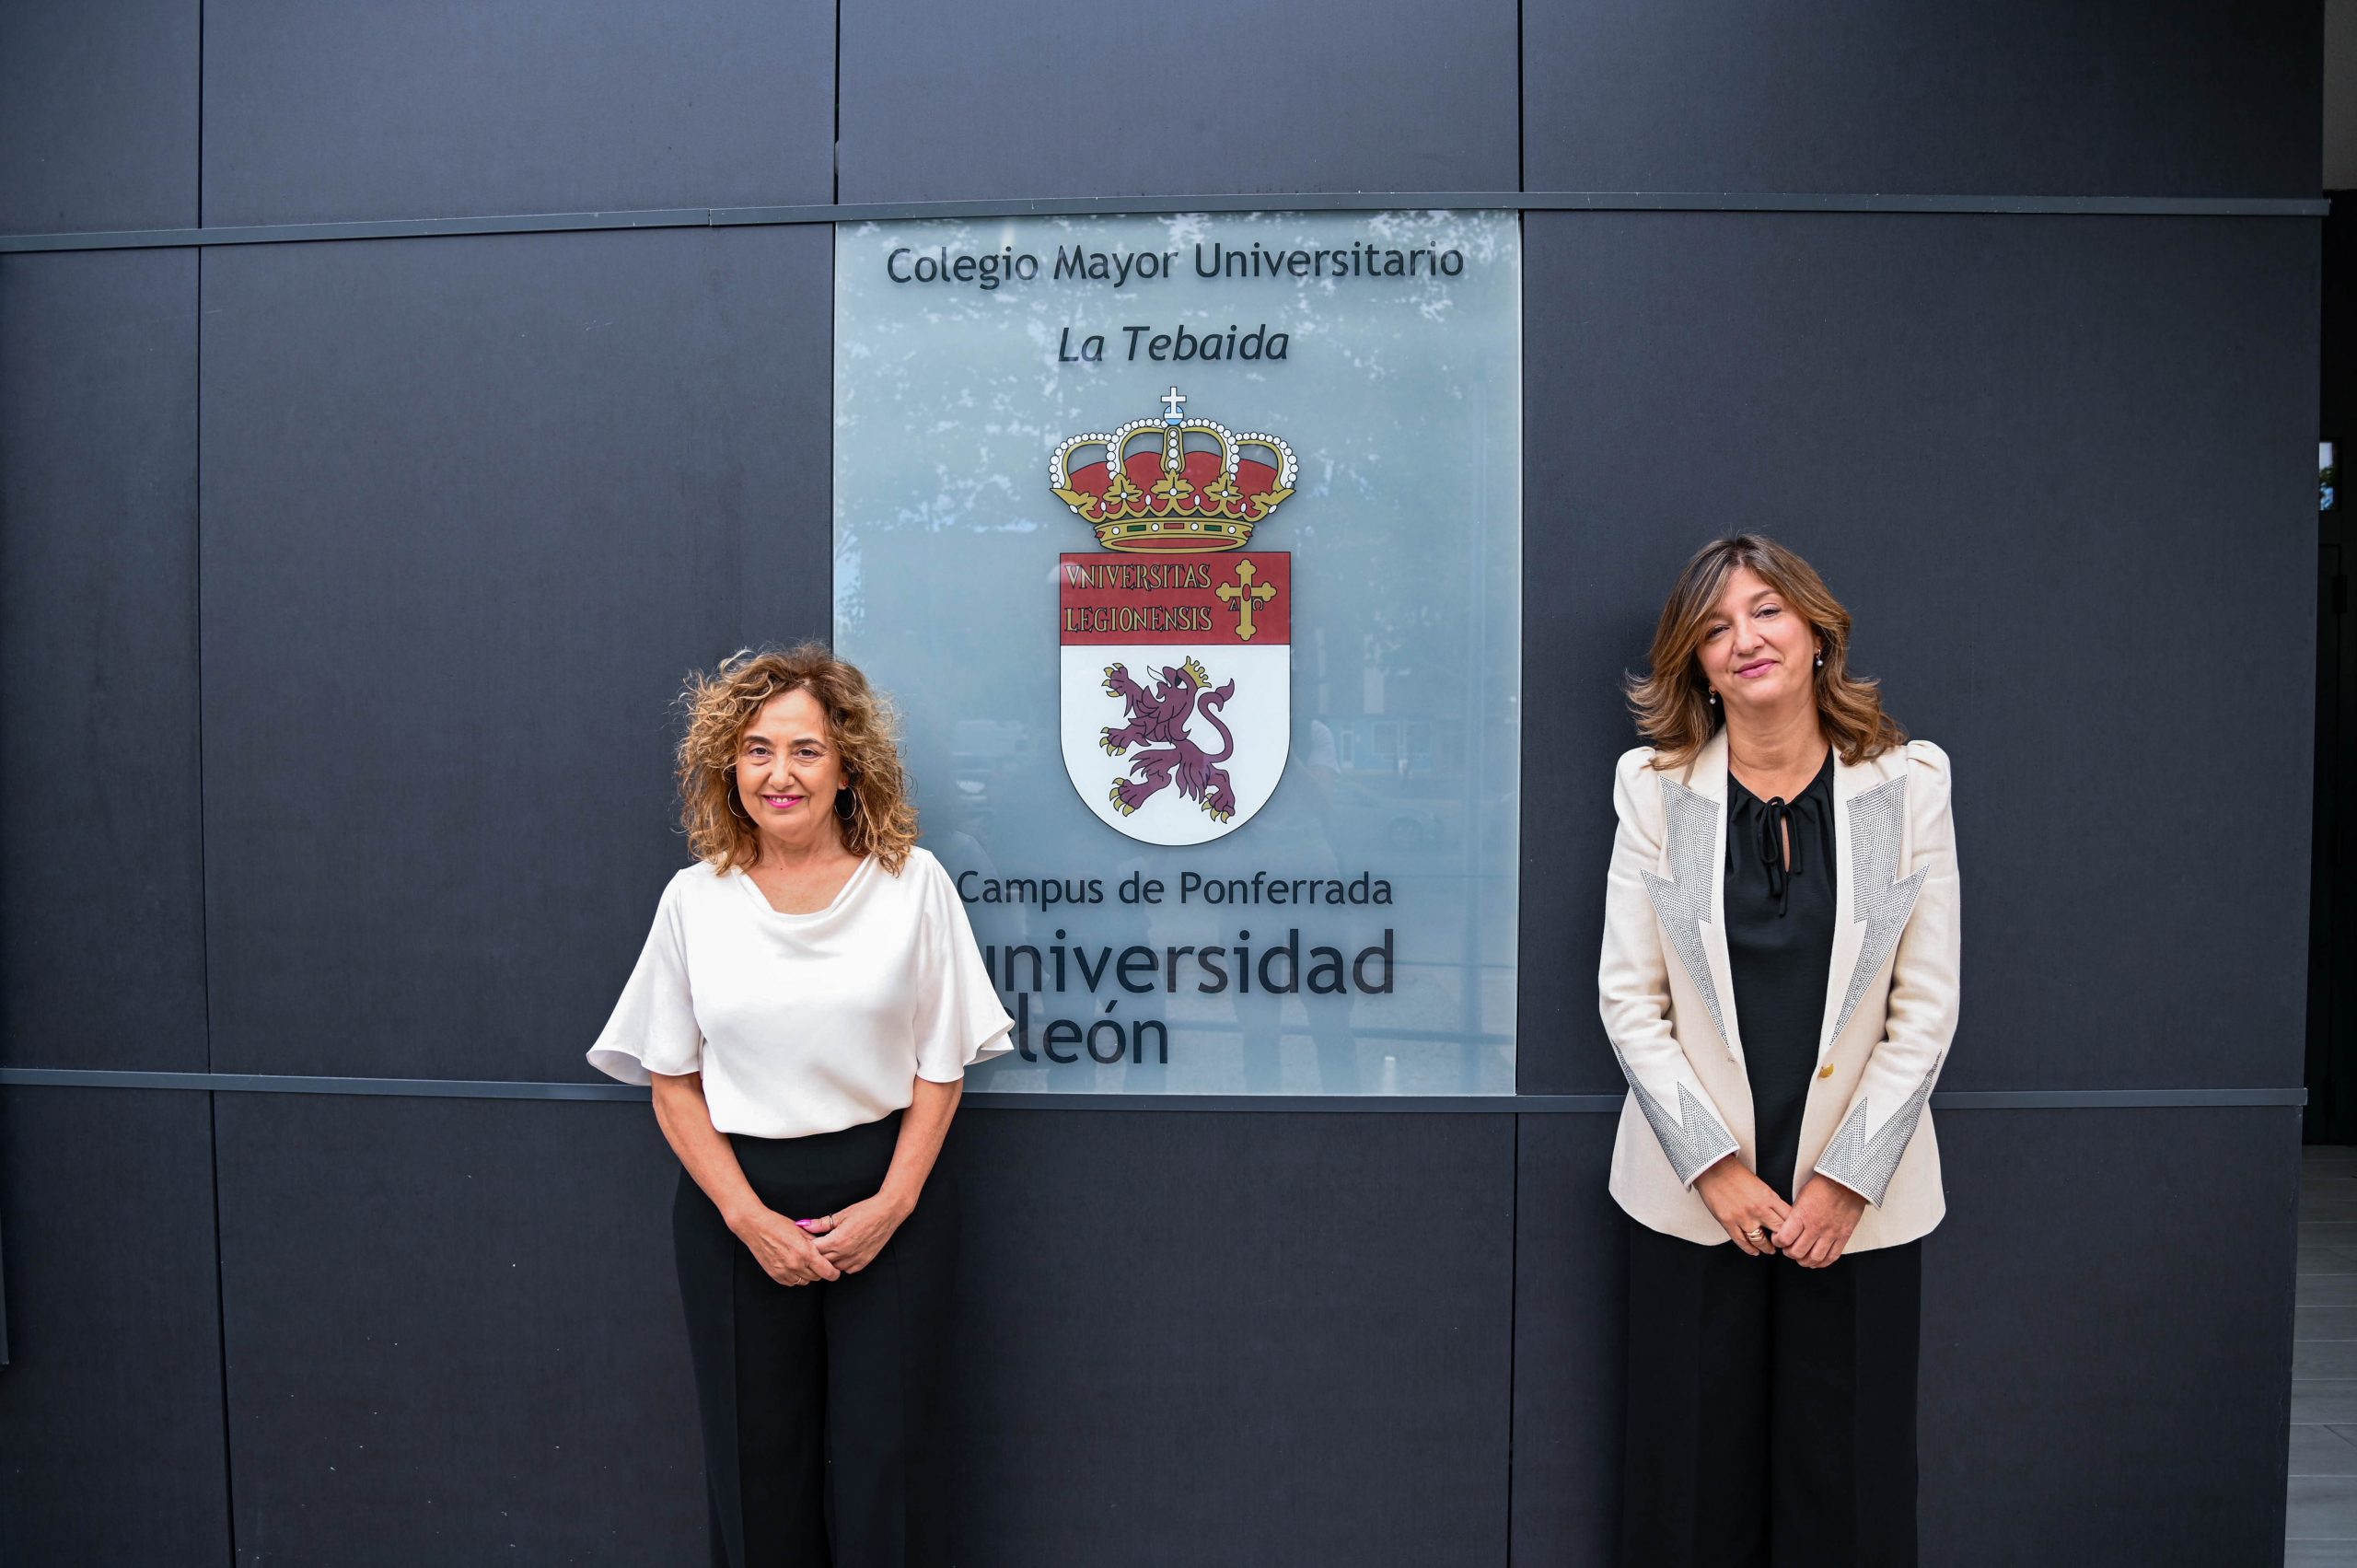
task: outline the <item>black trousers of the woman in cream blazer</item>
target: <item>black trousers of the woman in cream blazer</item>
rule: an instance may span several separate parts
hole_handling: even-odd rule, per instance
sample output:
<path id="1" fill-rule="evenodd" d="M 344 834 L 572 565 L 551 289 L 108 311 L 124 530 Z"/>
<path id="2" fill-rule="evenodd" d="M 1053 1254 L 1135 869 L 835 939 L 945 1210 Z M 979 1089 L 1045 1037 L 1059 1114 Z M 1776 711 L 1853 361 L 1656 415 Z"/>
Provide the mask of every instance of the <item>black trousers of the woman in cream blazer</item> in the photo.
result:
<path id="1" fill-rule="evenodd" d="M 1629 1224 L 1624 1568 L 1914 1568 L 1923 1243 L 1803 1269 Z"/>

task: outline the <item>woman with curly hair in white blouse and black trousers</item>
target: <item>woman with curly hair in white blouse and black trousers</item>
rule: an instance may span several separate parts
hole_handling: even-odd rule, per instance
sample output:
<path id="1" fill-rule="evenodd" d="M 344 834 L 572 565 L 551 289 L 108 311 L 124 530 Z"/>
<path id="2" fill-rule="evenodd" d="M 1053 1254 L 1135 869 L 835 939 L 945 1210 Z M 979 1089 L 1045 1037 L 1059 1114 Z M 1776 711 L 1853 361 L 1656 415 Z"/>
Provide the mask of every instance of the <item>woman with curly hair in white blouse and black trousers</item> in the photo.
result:
<path id="1" fill-rule="evenodd" d="M 712 1561 L 948 1563 L 933 1394 L 957 1217 L 926 1179 L 1011 1021 L 917 849 L 867 677 L 818 644 L 738 653 L 684 705 L 698 863 L 662 889 L 589 1061 L 653 1082 L 681 1165 Z"/>

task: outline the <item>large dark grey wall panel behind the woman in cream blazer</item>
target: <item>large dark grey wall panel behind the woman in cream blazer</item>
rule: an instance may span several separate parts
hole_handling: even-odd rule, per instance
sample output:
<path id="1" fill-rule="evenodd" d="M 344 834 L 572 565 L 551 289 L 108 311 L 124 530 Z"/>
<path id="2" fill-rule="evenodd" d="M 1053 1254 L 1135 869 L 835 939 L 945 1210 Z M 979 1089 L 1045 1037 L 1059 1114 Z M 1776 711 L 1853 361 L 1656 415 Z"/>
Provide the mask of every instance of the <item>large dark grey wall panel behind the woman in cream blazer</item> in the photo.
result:
<path id="1" fill-rule="evenodd" d="M 1560 606 L 1530 618 L 1527 667 L 1638 667 L 1695 545 L 1777 535 L 1956 764 L 1970 962 L 1940 1085 L 2298 1082 L 2315 229 L 1534 212 L 1525 233 L 1525 330 L 1560 344 L 1525 375 L 1530 427 L 1558 431 L 1530 443 L 1525 554 Z M 1570 806 L 1525 823 L 1525 941 L 1593 953 L 1596 755 L 1626 726 L 1607 679 L 1565 703 L 1525 733 L 1525 783 Z M 1619 1082 L 1591 990 L 1525 1007 L 1523 1092 Z"/>

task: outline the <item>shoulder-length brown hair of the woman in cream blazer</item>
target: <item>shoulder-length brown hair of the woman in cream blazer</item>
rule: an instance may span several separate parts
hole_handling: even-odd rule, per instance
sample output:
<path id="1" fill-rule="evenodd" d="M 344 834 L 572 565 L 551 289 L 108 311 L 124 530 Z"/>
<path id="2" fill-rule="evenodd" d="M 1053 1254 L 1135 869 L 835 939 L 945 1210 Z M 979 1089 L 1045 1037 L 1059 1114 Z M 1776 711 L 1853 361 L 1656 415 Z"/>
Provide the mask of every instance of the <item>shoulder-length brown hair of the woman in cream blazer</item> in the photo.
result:
<path id="1" fill-rule="evenodd" d="M 1657 747 L 1652 766 L 1685 766 L 1728 722 L 1709 700 L 1702 634 L 1711 630 L 1718 597 L 1737 566 L 1756 571 L 1824 644 L 1824 667 L 1815 672 L 1817 722 L 1841 762 L 1853 766 L 1904 745 L 1907 731 L 1883 712 L 1881 684 L 1850 674 L 1850 611 L 1841 608 L 1817 568 L 1768 535 L 1737 533 L 1711 540 L 1685 564 L 1652 630 L 1652 670 L 1629 677 L 1638 733 Z"/>

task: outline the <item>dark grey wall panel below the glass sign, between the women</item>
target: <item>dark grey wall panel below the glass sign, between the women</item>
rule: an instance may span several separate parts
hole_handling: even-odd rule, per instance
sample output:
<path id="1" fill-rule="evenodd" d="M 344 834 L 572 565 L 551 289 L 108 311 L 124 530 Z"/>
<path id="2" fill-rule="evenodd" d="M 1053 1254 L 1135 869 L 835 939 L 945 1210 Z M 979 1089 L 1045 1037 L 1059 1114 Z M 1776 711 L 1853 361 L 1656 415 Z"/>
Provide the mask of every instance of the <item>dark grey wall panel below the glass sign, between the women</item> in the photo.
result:
<path id="1" fill-rule="evenodd" d="M 1501 1561 L 1516 1120 L 966 1118 L 959 1561 Z"/>

